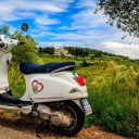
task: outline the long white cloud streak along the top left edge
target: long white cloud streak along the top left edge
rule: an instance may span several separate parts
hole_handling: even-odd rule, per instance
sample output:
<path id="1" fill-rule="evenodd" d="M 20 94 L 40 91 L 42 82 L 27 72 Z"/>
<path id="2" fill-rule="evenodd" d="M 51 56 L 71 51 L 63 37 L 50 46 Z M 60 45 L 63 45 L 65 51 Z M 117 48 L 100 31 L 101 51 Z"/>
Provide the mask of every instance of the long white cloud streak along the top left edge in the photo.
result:
<path id="1" fill-rule="evenodd" d="M 68 1 L 59 2 L 53 0 L 4 0 L 0 1 L 0 11 L 14 11 L 14 10 L 24 10 L 24 11 L 46 11 L 46 12 L 63 12 L 67 8 Z"/>

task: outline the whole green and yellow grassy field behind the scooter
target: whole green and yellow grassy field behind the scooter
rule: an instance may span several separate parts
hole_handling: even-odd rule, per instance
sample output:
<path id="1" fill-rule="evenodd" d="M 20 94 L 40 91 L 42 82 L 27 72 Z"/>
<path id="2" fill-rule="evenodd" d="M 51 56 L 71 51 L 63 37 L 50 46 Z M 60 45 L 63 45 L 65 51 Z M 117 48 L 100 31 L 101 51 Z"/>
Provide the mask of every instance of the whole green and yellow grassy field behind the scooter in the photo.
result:
<path id="1" fill-rule="evenodd" d="M 86 118 L 85 127 L 99 125 L 106 130 L 139 137 L 139 61 L 122 56 L 55 58 L 38 55 L 37 63 L 75 61 L 76 73 L 87 80 L 93 114 Z M 16 64 L 9 70 L 12 91 L 21 97 L 25 90 L 24 78 Z"/>

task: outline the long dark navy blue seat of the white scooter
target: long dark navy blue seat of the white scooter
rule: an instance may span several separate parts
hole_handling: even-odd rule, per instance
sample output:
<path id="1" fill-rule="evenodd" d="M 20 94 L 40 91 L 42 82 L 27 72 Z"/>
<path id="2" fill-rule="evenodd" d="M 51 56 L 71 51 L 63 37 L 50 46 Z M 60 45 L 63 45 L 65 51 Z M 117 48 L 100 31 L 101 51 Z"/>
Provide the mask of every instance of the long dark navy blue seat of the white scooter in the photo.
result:
<path id="1" fill-rule="evenodd" d="M 74 62 L 63 62 L 63 63 L 48 63 L 45 65 L 38 65 L 30 62 L 23 62 L 20 65 L 20 70 L 23 74 L 41 74 L 51 72 L 62 72 L 62 71 L 74 71 Z"/>

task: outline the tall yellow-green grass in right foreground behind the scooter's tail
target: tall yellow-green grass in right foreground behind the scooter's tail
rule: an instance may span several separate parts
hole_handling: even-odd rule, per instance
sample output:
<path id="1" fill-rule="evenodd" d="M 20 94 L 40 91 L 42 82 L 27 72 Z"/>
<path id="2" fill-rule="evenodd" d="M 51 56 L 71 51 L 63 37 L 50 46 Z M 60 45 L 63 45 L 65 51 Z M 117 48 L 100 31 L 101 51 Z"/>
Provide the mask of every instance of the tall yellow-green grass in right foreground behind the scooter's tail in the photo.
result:
<path id="1" fill-rule="evenodd" d="M 93 114 L 87 117 L 86 126 L 96 124 L 104 129 L 138 139 L 139 73 L 132 67 L 127 68 L 113 62 L 106 65 L 104 70 L 80 70 L 89 83 L 88 92 L 93 110 Z M 91 76 L 93 74 L 98 76 Z"/>

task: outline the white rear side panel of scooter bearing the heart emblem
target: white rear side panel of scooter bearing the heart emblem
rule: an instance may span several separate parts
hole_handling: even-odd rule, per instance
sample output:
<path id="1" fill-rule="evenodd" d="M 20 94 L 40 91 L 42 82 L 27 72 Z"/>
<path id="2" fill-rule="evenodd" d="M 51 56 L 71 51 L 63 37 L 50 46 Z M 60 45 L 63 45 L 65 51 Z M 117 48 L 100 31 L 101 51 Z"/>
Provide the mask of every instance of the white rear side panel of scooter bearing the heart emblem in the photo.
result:
<path id="1" fill-rule="evenodd" d="M 38 103 L 87 98 L 86 86 L 79 86 L 72 72 L 25 75 L 26 92 L 21 100 Z"/>

